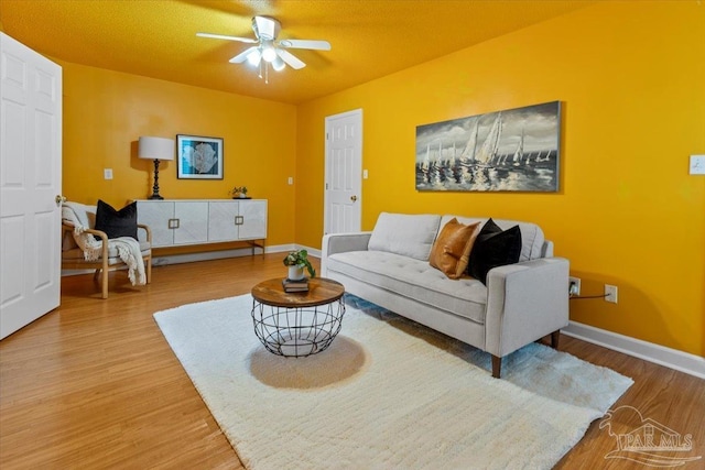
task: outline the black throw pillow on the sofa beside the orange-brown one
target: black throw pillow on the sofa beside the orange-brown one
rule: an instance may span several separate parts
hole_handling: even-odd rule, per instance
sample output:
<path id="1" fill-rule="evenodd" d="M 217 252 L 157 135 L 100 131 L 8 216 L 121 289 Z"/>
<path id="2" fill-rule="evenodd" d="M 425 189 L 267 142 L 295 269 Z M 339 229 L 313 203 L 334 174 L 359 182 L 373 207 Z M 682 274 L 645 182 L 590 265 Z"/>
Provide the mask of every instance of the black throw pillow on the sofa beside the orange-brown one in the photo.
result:
<path id="1" fill-rule="evenodd" d="M 520 254 L 519 226 L 502 230 L 492 219 L 489 219 L 475 240 L 467 273 L 487 285 L 489 270 L 517 263 Z"/>

